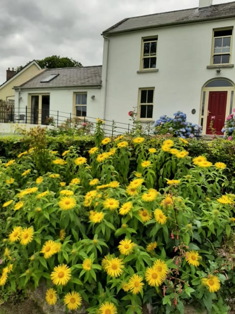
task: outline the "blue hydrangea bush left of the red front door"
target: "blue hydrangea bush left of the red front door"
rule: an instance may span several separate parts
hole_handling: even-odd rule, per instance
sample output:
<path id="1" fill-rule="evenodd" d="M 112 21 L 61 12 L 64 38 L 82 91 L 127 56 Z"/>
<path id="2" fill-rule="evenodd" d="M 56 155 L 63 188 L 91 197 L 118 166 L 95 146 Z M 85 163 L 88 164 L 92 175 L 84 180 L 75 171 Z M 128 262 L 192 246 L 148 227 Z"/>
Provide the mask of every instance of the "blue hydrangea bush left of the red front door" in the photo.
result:
<path id="1" fill-rule="evenodd" d="M 169 134 L 174 137 L 192 138 L 201 132 L 201 126 L 187 121 L 187 116 L 182 111 L 174 113 L 170 118 L 166 115 L 161 116 L 154 124 L 155 134 Z"/>

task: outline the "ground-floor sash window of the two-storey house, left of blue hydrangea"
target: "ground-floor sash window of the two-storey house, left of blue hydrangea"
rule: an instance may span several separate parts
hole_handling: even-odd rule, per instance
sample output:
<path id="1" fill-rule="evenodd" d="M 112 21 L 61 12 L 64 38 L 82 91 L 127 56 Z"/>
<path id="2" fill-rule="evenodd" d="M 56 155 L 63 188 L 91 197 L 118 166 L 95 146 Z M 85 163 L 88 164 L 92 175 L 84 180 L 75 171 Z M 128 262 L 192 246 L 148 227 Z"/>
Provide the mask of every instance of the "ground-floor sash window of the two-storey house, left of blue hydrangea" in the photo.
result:
<path id="1" fill-rule="evenodd" d="M 141 88 L 139 95 L 140 119 L 152 119 L 153 117 L 153 88 Z"/>

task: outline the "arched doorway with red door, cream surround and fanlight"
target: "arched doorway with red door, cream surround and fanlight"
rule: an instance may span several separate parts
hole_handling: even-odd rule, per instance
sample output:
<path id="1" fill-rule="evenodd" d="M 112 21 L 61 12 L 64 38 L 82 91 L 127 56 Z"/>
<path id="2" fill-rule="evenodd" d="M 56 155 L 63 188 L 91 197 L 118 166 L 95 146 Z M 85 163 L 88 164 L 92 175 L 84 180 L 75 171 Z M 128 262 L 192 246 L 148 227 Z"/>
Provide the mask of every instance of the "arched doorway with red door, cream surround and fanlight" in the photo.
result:
<path id="1" fill-rule="evenodd" d="M 235 84 L 227 78 L 213 78 L 202 88 L 200 124 L 203 134 L 212 134 L 211 120 L 215 134 L 222 135 L 226 117 L 234 108 Z"/>

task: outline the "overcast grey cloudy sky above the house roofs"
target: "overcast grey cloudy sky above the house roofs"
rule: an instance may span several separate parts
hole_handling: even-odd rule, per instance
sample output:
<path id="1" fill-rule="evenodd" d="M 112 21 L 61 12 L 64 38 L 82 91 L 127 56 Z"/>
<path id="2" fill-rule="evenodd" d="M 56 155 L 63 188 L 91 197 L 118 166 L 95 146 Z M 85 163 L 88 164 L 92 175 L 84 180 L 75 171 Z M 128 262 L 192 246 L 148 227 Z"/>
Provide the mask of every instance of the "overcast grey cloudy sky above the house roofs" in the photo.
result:
<path id="1" fill-rule="evenodd" d="M 213 0 L 213 4 L 232 2 Z M 101 33 L 120 20 L 197 7 L 199 0 L 0 0 L 0 84 L 8 67 L 56 54 L 102 64 Z"/>

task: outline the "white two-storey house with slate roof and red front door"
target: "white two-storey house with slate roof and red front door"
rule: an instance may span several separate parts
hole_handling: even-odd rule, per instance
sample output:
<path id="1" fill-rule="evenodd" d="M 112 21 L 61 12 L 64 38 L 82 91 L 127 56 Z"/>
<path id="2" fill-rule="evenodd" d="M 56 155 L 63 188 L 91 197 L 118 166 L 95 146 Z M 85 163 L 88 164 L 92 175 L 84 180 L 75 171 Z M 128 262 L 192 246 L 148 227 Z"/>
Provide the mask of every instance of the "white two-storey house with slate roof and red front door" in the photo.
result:
<path id="1" fill-rule="evenodd" d="M 124 19 L 103 31 L 103 119 L 142 122 L 181 110 L 222 134 L 235 107 L 235 1 Z"/>

